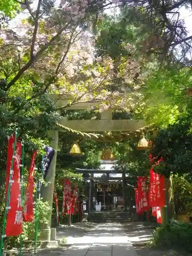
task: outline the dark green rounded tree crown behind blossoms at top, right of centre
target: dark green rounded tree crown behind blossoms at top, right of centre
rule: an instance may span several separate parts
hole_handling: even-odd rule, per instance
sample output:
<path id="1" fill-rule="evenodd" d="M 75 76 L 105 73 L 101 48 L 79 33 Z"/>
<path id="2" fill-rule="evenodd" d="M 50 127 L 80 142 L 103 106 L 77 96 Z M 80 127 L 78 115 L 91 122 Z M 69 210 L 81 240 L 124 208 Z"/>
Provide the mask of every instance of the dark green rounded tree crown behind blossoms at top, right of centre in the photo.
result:
<path id="1" fill-rule="evenodd" d="M 131 56 L 131 51 L 126 49 L 126 44 L 131 44 L 142 52 L 141 45 L 153 26 L 152 20 L 146 18 L 146 13 L 139 8 L 121 7 L 121 11 L 105 15 L 97 24 L 100 35 L 96 46 L 98 54 L 108 54 L 118 61 L 122 56 Z"/>

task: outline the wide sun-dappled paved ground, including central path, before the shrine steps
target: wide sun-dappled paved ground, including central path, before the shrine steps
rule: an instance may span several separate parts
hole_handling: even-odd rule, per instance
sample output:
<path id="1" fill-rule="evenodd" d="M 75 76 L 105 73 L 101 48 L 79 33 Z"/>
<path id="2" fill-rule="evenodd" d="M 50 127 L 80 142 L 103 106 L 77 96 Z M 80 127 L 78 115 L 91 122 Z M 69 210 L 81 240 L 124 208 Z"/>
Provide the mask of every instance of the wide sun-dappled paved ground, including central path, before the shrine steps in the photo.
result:
<path id="1" fill-rule="evenodd" d="M 93 223 L 82 222 L 57 229 L 58 248 L 37 250 L 39 256 L 138 256 L 156 255 L 134 249 L 133 245 L 149 242 L 152 228 L 142 222 Z M 65 242 L 63 244 L 62 242 Z M 29 256 L 31 253 L 24 253 Z M 158 254 L 158 256 L 161 254 Z M 163 254 L 162 254 L 163 255 Z M 165 254 L 166 255 L 166 254 Z M 168 254 L 169 255 L 169 254 Z"/>

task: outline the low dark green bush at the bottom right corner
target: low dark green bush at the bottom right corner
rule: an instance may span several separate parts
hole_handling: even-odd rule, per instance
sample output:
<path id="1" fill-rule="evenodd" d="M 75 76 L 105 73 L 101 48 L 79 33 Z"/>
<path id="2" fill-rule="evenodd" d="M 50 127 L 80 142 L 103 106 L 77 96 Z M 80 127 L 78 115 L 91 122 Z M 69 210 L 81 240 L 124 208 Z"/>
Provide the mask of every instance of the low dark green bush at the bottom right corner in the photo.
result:
<path id="1" fill-rule="evenodd" d="M 166 227 L 158 227 L 154 230 L 152 244 L 157 247 L 192 253 L 191 241 L 192 224 L 173 221 Z"/>

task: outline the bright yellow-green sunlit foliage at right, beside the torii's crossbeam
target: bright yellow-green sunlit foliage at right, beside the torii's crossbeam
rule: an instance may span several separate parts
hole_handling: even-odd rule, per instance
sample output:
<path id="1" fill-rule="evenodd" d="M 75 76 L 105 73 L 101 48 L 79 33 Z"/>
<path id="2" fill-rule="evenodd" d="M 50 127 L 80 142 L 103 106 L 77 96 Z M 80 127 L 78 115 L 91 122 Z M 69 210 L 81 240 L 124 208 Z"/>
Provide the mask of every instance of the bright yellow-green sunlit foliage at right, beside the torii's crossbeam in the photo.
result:
<path id="1" fill-rule="evenodd" d="M 174 124 L 190 101 L 186 89 L 191 87 L 191 80 L 190 68 L 172 66 L 154 70 L 142 88 L 144 104 L 137 111 L 161 127 Z"/>

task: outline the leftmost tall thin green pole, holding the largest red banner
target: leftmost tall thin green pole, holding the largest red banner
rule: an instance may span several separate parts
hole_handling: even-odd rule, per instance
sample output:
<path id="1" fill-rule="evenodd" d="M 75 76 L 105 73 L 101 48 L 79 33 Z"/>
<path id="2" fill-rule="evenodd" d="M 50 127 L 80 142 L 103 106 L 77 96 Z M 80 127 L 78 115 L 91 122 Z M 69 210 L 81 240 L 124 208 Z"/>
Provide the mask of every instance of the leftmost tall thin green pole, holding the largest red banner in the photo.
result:
<path id="1" fill-rule="evenodd" d="M 15 141 L 13 146 L 13 155 L 15 153 L 15 147 L 17 142 L 17 129 L 15 129 Z M 9 175 L 9 184 L 8 184 L 8 191 L 7 191 L 7 200 L 6 200 L 6 207 L 5 207 L 5 213 L 4 213 L 4 221 L 3 221 L 3 230 L 2 230 L 2 237 L 1 237 L 1 245 L 0 245 L 0 256 L 2 256 L 3 253 L 3 245 L 4 245 L 4 238 L 6 237 L 5 234 L 5 227 L 6 227 L 6 218 L 7 218 L 7 212 L 9 208 L 9 196 L 10 196 L 10 190 L 11 190 L 11 175 L 13 170 L 13 156 L 11 160 L 11 169 L 10 169 L 10 175 Z"/>

